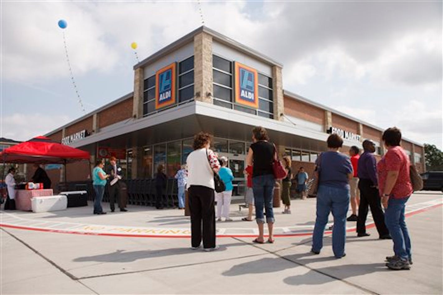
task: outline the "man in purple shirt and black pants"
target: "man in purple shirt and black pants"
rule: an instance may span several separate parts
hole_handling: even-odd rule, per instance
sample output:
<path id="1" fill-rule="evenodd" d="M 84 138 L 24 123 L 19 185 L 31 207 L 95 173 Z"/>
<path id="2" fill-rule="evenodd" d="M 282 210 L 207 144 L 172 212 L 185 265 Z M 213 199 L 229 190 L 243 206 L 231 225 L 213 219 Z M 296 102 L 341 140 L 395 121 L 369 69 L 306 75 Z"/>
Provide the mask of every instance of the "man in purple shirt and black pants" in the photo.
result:
<path id="1" fill-rule="evenodd" d="M 378 195 L 377 161 L 373 155 L 375 151 L 374 142 L 372 140 L 363 141 L 363 149 L 365 152 L 358 159 L 360 206 L 358 206 L 357 237 L 369 236 L 369 233 L 366 233 L 365 226 L 369 206 L 380 239 L 390 239 L 391 236 L 385 225 L 385 214 L 381 209 L 381 201 Z"/>

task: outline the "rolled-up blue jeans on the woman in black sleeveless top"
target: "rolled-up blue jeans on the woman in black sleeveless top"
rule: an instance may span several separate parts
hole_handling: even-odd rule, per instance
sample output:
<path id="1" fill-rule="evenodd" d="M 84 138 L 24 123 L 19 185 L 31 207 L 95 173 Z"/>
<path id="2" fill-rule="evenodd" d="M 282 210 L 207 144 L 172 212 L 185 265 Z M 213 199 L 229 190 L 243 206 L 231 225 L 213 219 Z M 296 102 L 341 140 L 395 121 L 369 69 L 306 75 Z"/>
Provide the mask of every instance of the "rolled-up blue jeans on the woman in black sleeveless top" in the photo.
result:
<path id="1" fill-rule="evenodd" d="M 266 222 L 274 222 L 272 199 L 274 197 L 275 179 L 273 174 L 259 175 L 252 179 L 254 192 L 255 217 L 257 223 L 264 223 L 263 206 L 266 211 Z"/>

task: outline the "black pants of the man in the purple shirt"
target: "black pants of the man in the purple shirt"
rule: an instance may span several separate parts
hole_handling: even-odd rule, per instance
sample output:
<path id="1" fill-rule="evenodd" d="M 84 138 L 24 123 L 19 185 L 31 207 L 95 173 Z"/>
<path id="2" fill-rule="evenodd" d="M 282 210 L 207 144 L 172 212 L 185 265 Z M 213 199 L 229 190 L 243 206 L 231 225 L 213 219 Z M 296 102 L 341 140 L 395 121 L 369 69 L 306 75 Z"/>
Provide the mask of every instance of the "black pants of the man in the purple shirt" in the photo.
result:
<path id="1" fill-rule="evenodd" d="M 385 214 L 381 209 L 381 199 L 378 195 L 378 189 L 373 187 L 372 180 L 360 179 L 358 181 L 358 188 L 360 189 L 360 206 L 358 206 L 357 233 L 366 232 L 365 222 L 368 216 L 369 205 L 378 234 L 380 236 L 389 234 L 389 230 L 385 225 Z"/>

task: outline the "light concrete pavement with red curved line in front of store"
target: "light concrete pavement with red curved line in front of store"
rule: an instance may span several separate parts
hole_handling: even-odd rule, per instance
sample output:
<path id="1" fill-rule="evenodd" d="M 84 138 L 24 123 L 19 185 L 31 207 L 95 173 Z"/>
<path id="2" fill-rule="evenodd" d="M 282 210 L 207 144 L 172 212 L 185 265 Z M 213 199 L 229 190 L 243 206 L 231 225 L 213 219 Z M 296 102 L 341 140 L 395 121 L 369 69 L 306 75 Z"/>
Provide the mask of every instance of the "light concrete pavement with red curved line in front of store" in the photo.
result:
<path id="1" fill-rule="evenodd" d="M 373 227 L 370 237 L 355 237 L 355 222 L 347 224 L 346 257 L 333 257 L 330 234 L 322 253 L 312 255 L 315 199 L 293 200 L 291 215 L 276 208 L 281 237 L 263 245 L 251 243 L 256 224 L 241 221 L 246 210 L 232 205 L 235 221 L 217 223 L 220 249 L 214 252 L 190 250 L 189 217 L 179 210 L 129 206 L 127 213 L 103 216 L 92 215 L 91 206 L 12 216 L 2 211 L 1 292 L 441 294 L 442 199 L 443 194 L 419 193 L 408 202 L 414 264 L 410 271 L 397 272 L 384 264 L 384 257 L 392 255 L 392 241 L 378 240 Z M 85 225 L 96 229 L 85 231 Z M 118 235 L 107 235 L 114 233 L 111 229 Z M 157 232 L 143 232 L 149 229 Z M 161 229 L 181 232 L 161 237 Z"/>

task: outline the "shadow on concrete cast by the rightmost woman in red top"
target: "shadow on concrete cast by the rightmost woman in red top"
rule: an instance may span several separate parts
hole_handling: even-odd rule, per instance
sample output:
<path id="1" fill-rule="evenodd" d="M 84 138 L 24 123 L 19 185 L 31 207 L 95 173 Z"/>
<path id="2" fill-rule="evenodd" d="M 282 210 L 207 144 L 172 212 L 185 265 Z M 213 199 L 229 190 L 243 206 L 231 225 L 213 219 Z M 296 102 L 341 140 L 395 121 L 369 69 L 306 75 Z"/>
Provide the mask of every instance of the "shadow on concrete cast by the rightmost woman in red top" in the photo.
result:
<path id="1" fill-rule="evenodd" d="M 347 279 L 354 276 L 364 276 L 373 272 L 388 272 L 388 269 L 383 263 L 345 264 L 326 268 L 316 268 L 303 275 L 289 276 L 285 278 L 283 282 L 288 285 L 321 285 L 337 280 L 333 277 L 327 276 L 329 274 L 339 279 Z M 319 273 L 326 275 L 318 276 Z"/>

